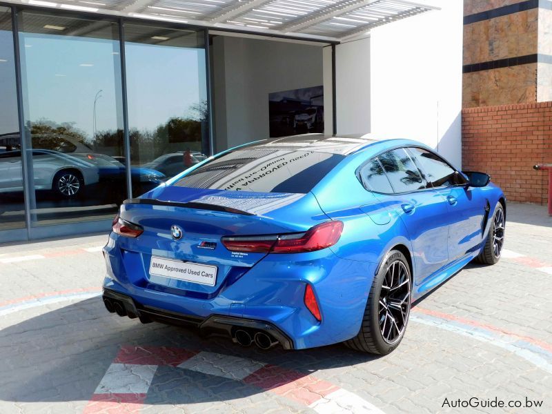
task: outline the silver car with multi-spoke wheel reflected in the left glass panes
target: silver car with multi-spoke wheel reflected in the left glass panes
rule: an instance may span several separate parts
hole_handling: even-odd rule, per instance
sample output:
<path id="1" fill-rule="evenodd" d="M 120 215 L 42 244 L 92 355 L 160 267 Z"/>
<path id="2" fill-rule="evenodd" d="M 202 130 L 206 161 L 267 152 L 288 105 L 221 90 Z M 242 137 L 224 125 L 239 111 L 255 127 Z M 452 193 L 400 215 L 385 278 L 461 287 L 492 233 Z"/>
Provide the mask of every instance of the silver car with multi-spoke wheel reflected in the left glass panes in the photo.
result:
<path id="1" fill-rule="evenodd" d="M 52 190 L 59 197 L 77 197 L 84 186 L 99 181 L 99 169 L 90 162 L 53 150 L 29 150 L 34 189 Z M 0 192 L 22 192 L 21 150 L 0 153 Z"/>

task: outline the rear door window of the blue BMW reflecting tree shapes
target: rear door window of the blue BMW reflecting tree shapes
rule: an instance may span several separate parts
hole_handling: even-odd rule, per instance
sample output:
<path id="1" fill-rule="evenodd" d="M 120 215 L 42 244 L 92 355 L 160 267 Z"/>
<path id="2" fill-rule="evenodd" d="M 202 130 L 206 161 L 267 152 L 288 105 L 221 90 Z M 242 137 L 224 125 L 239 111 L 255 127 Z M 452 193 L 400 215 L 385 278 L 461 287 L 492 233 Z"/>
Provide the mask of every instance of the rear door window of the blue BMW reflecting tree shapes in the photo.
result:
<path id="1" fill-rule="evenodd" d="M 395 193 L 426 188 L 426 181 L 404 148 L 385 152 L 378 157 Z"/>

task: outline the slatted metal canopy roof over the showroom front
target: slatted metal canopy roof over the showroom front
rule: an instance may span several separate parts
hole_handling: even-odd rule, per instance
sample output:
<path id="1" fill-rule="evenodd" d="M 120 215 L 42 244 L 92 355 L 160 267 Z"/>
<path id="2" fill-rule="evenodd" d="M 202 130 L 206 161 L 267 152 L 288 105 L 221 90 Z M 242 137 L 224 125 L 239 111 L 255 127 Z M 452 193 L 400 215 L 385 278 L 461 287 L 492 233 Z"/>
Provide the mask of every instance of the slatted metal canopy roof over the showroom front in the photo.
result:
<path id="1" fill-rule="evenodd" d="M 342 41 L 438 9 L 426 0 L 8 0 L 255 34 Z"/>

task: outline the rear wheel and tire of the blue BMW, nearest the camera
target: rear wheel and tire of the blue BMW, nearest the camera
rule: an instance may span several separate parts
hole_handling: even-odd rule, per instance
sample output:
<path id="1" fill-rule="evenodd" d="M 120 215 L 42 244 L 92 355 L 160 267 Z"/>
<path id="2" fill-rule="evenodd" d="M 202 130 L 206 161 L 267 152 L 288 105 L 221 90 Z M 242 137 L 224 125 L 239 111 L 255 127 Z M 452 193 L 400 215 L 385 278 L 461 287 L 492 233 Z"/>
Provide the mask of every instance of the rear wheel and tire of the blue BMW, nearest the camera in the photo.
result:
<path id="1" fill-rule="evenodd" d="M 389 293 L 391 290 L 393 293 Z M 411 291 L 412 277 L 408 261 L 399 250 L 391 250 L 384 257 L 372 282 L 359 333 L 348 339 L 345 345 L 355 351 L 379 355 L 387 355 L 395 350 L 408 324 Z M 399 303 L 400 307 L 397 306 Z"/>

